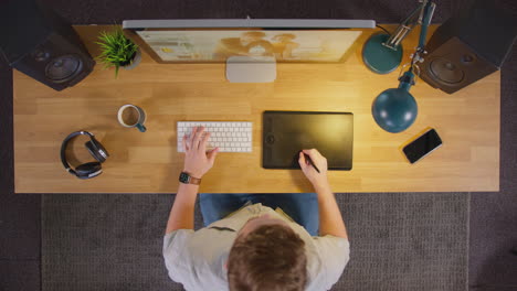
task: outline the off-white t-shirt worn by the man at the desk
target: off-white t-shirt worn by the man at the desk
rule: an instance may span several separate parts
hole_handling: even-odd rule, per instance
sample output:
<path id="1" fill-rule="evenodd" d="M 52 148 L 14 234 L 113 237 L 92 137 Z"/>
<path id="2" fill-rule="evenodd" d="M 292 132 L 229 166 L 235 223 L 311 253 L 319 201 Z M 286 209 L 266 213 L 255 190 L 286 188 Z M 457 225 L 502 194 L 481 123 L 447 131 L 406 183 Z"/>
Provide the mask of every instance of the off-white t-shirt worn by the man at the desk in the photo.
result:
<path id="1" fill-rule="evenodd" d="M 229 290 L 224 267 L 238 231 L 250 218 L 264 214 L 285 220 L 305 241 L 307 256 L 306 290 L 329 290 L 350 258 L 348 239 L 313 237 L 305 228 L 276 208 L 261 203 L 241 208 L 229 217 L 197 231 L 178 229 L 163 237 L 163 258 L 169 277 L 186 290 Z"/>

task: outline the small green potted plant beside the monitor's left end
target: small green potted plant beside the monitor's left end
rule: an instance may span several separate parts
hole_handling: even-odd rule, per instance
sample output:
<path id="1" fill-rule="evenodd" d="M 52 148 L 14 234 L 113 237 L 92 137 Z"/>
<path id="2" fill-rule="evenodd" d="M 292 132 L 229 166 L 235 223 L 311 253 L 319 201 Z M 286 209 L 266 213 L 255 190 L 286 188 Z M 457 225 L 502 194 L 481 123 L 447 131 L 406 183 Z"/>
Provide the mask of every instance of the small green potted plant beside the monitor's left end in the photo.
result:
<path id="1" fill-rule="evenodd" d="M 102 32 L 98 36 L 101 54 L 98 60 L 105 68 L 115 67 L 115 77 L 118 76 L 118 68 L 131 69 L 141 61 L 141 53 L 138 45 L 124 35 L 120 29 L 114 32 Z"/>

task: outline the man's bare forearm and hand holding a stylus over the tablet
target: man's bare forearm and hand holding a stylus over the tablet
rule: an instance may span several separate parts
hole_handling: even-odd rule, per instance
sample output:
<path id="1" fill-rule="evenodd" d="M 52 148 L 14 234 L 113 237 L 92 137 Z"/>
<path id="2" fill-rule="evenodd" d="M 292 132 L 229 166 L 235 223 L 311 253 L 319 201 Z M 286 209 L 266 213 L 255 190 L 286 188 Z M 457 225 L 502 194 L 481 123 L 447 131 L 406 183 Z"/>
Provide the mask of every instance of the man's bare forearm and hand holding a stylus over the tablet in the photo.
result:
<path id="1" fill-rule="evenodd" d="M 318 168 L 318 171 L 305 158 L 307 154 L 313 163 Z M 336 237 L 348 238 L 345 222 L 342 220 L 341 212 L 336 203 L 336 197 L 327 179 L 327 159 L 317 150 L 303 150 L 299 153 L 299 166 L 305 176 L 313 183 L 314 190 L 318 194 L 319 209 L 319 234 L 320 236 L 333 235 Z"/>

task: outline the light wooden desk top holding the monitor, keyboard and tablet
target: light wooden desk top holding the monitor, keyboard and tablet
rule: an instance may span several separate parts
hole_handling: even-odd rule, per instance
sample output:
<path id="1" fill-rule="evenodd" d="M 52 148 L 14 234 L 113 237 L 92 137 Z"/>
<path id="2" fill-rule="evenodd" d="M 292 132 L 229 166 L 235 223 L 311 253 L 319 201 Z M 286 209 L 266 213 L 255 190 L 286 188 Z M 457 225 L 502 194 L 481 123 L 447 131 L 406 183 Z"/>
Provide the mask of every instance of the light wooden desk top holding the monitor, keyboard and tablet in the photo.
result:
<path id="1" fill-rule="evenodd" d="M 93 55 L 103 26 L 76 26 Z M 399 71 L 376 75 L 362 64 L 361 42 L 341 64 L 278 64 L 271 84 L 230 84 L 224 64 L 159 65 L 144 54 L 134 71 L 95 71 L 82 83 L 54 91 L 15 72 L 14 174 L 17 193 L 175 193 L 182 169 L 176 149 L 179 120 L 253 121 L 252 153 L 221 153 L 204 176 L 202 192 L 310 192 L 300 171 L 261 166 L 261 116 L 264 110 L 349 111 L 355 115 L 354 170 L 330 172 L 335 192 L 460 192 L 499 188 L 500 75 L 446 95 L 418 80 L 411 88 L 419 105 L 415 123 L 402 133 L 381 130 L 371 103 L 397 87 Z M 418 33 L 404 41 L 408 53 Z M 124 104 L 148 114 L 146 133 L 117 122 Z M 441 134 L 443 147 L 411 165 L 401 144 L 426 127 Z M 63 170 L 61 142 L 75 130 L 97 136 L 112 157 L 105 172 L 81 181 Z M 74 144 L 82 162 L 92 161 L 83 142 Z M 76 149 L 75 149 L 76 148 Z"/>

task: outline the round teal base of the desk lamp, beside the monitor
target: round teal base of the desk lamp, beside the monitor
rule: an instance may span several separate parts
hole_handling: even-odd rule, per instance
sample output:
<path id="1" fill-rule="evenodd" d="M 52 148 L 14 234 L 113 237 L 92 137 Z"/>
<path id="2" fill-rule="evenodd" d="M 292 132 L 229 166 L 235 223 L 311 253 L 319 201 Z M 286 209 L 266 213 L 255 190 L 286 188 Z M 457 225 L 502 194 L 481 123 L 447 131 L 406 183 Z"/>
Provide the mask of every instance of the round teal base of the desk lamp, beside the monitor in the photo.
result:
<path id="1" fill-rule="evenodd" d="M 382 45 L 390 39 L 389 34 L 380 33 L 372 35 L 362 47 L 362 61 L 365 65 L 377 74 L 393 72 L 402 62 L 402 45 L 391 50 Z"/>

